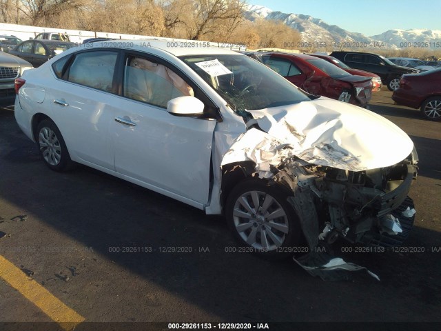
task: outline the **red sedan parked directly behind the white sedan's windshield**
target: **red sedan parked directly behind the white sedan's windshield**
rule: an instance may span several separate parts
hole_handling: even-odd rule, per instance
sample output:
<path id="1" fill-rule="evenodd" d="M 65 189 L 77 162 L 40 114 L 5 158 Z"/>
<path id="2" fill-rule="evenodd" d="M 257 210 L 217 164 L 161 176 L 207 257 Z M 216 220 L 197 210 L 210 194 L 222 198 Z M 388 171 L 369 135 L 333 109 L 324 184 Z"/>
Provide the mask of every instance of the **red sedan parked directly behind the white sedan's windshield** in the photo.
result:
<path id="1" fill-rule="evenodd" d="M 282 52 L 245 52 L 310 94 L 366 107 L 371 99 L 371 77 L 353 76 L 317 57 Z"/>

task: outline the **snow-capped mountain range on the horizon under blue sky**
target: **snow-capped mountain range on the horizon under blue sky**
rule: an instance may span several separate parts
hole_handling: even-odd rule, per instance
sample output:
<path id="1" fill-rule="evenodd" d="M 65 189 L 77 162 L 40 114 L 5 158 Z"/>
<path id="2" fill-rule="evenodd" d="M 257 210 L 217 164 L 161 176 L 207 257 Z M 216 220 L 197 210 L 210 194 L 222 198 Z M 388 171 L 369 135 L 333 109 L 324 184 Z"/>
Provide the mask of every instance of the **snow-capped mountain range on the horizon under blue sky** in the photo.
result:
<path id="1" fill-rule="evenodd" d="M 358 32 L 349 32 L 336 25 L 329 25 L 321 19 L 309 15 L 287 14 L 275 12 L 269 8 L 250 5 L 245 17 L 250 21 L 256 19 L 271 19 L 283 21 L 287 26 L 298 30 L 302 41 L 334 43 L 334 48 L 342 46 L 342 43 L 360 45 L 360 48 L 406 48 L 409 43 L 416 47 L 440 48 L 441 30 L 389 30 L 376 36 L 367 37 Z M 436 44 L 438 42 L 438 45 Z M 420 43 L 418 46 L 418 43 Z M 421 43 L 425 43 L 422 45 Z M 342 46 L 345 48 L 345 46 Z M 351 46 L 346 47 L 351 48 Z"/>

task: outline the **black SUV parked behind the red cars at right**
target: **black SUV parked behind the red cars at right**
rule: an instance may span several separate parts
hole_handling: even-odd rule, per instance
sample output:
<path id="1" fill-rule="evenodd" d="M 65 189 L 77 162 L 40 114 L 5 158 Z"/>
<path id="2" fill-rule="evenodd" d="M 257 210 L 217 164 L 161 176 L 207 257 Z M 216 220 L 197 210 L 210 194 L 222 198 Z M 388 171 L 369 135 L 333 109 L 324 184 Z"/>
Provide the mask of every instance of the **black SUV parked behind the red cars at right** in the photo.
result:
<path id="1" fill-rule="evenodd" d="M 418 69 L 400 67 L 385 57 L 373 53 L 338 51 L 332 52 L 331 57 L 336 57 L 351 68 L 366 70 L 378 74 L 389 90 L 398 88 L 403 74 L 417 74 Z"/>

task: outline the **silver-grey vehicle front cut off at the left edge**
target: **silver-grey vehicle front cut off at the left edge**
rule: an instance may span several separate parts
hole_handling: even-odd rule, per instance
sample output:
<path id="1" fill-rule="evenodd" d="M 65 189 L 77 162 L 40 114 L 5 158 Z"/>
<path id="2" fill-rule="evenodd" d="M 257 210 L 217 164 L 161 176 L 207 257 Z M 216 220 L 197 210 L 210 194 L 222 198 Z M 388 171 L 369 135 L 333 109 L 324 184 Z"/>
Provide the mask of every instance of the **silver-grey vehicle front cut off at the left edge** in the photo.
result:
<path id="1" fill-rule="evenodd" d="M 14 104 L 14 81 L 28 69 L 32 69 L 32 65 L 28 61 L 0 52 L 0 107 Z"/>

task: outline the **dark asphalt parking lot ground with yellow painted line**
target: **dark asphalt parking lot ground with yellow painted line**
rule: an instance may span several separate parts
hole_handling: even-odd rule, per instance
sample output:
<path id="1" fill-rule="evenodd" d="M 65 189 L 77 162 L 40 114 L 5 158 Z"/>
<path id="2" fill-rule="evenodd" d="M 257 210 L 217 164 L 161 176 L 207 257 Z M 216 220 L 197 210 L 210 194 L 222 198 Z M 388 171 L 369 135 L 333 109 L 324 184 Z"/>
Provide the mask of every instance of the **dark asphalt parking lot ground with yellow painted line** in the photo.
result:
<path id="1" fill-rule="evenodd" d="M 222 217 L 84 166 L 49 170 L 0 109 L 0 322 L 441 322 L 441 123 L 393 105 L 387 88 L 370 105 L 416 144 L 416 226 L 400 250 L 337 245 L 380 281 L 359 271 L 332 283 L 232 252 Z M 143 330 L 155 326 L 169 325 Z"/>

